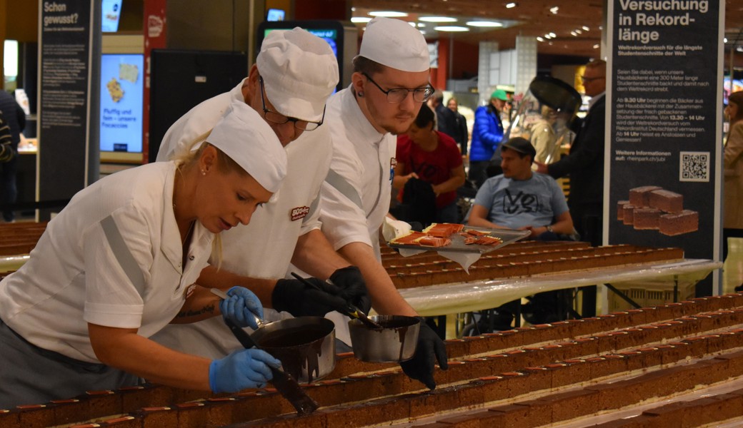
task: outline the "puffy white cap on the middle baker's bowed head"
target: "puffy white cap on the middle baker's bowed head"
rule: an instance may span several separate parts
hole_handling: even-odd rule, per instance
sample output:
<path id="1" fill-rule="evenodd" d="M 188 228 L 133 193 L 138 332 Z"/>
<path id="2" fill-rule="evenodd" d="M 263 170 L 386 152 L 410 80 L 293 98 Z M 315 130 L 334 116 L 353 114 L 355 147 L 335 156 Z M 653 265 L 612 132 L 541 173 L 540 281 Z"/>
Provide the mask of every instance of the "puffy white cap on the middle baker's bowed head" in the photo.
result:
<path id="1" fill-rule="evenodd" d="M 338 60 L 325 40 L 302 28 L 273 30 L 256 58 L 273 107 L 285 116 L 318 122 L 338 84 Z"/>

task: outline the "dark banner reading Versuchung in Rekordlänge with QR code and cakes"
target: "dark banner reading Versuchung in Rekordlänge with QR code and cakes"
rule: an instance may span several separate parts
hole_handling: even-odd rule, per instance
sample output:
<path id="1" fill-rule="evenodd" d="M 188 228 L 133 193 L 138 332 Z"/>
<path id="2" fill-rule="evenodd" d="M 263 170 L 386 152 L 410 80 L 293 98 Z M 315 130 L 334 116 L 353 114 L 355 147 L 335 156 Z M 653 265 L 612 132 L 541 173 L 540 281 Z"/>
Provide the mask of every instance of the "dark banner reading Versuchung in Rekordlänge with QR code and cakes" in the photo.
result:
<path id="1" fill-rule="evenodd" d="M 724 8 L 614 0 L 608 22 L 605 236 L 717 260 Z"/>

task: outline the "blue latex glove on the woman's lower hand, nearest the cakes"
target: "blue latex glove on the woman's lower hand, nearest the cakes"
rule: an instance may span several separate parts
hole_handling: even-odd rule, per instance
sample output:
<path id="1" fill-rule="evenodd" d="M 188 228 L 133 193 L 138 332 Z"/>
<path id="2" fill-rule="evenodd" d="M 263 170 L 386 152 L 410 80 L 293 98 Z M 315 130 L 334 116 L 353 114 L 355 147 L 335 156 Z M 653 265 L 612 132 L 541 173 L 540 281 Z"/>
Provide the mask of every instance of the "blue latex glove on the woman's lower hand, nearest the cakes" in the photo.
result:
<path id="1" fill-rule="evenodd" d="M 209 366 L 212 392 L 238 392 L 262 388 L 273 378 L 270 367 L 278 369 L 281 361 L 261 349 L 239 349 Z"/>

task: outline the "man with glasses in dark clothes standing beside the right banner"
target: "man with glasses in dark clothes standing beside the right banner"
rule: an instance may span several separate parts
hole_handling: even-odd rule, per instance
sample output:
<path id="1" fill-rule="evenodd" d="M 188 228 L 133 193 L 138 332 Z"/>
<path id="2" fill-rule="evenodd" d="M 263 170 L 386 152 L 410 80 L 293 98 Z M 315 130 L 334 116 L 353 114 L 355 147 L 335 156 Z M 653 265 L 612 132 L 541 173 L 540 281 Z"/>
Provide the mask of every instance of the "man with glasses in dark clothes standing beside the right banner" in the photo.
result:
<path id="1" fill-rule="evenodd" d="M 536 162 L 536 171 L 556 179 L 570 176 L 568 206 L 575 228 L 582 240 L 600 246 L 603 243 L 606 62 L 600 59 L 589 62 L 581 79 L 585 95 L 590 96 L 591 101 L 570 153 L 550 165 Z"/>

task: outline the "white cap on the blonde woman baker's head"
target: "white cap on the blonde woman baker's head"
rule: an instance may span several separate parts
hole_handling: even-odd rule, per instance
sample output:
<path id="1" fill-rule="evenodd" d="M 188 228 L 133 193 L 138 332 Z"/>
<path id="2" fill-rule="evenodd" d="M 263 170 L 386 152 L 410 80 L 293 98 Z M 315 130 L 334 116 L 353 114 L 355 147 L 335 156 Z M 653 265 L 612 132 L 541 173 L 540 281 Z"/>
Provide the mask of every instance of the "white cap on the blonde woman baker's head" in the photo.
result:
<path id="1" fill-rule="evenodd" d="M 250 105 L 233 101 L 207 136 L 267 191 L 276 193 L 286 177 L 286 151 L 273 129 Z"/>

